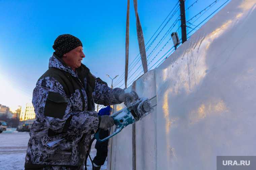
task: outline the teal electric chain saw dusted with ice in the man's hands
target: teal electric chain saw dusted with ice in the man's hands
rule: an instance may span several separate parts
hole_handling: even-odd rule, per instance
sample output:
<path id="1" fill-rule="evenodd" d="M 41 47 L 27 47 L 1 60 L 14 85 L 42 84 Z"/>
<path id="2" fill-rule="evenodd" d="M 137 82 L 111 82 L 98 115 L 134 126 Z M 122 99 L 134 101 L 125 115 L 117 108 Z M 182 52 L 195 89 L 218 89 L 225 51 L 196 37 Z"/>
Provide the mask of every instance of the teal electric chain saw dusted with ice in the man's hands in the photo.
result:
<path id="1" fill-rule="evenodd" d="M 97 141 L 103 142 L 115 136 L 116 134 L 121 132 L 121 130 L 126 126 L 141 120 L 141 118 L 154 111 L 150 100 L 146 97 L 139 98 L 133 103 L 125 102 L 125 105 L 126 108 L 111 115 L 116 125 L 114 132 L 106 138 L 100 139 L 99 129 L 99 131 L 94 134 L 94 138 Z"/>

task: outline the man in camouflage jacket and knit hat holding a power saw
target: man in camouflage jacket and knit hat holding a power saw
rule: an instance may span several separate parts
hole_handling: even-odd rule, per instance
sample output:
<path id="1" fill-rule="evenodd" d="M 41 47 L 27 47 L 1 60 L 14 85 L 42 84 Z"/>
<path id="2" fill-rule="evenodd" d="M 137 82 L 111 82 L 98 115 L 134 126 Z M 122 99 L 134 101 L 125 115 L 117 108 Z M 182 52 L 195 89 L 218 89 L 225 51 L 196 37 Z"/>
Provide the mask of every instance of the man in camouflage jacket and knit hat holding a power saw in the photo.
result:
<path id="1" fill-rule="evenodd" d="M 78 38 L 60 35 L 53 49 L 49 70 L 33 91 L 36 121 L 30 130 L 25 170 L 83 170 L 91 134 L 114 125 L 110 116 L 97 116 L 94 102 L 118 104 L 136 96 L 95 78 L 81 63 L 85 54 Z"/>

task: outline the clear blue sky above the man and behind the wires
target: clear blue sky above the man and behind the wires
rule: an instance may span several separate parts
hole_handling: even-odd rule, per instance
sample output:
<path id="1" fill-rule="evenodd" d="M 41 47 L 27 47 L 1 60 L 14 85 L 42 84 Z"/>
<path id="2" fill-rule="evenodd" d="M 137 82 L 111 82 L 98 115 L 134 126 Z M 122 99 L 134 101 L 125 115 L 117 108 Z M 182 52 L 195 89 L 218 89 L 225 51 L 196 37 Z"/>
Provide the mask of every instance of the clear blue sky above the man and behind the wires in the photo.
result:
<path id="1" fill-rule="evenodd" d="M 225 1 L 219 0 L 194 25 L 200 23 Z M 177 0 L 138 1 L 145 44 L 177 2 Z M 186 8 L 194 2 L 195 0 L 186 0 Z M 186 11 L 187 20 L 212 2 L 214 0 L 198 0 Z M 73 2 L 1 0 L 0 103 L 14 107 L 23 105 L 32 98 L 36 81 L 48 69 L 49 57 L 54 52 L 53 42 L 60 34 L 72 34 L 83 42 L 86 55 L 83 63 L 96 77 L 106 81 L 109 86 L 111 80 L 106 74 L 112 77 L 119 74 L 118 78 L 122 78 L 125 62 L 126 8 L 127 1 L 120 0 Z M 174 22 L 178 15 L 179 11 L 171 18 L 169 24 Z M 189 31 L 188 28 L 187 32 Z M 168 48 L 163 49 L 163 53 L 172 47 L 172 44 L 168 45 Z M 152 48 L 153 46 L 154 44 Z M 130 63 L 138 51 L 133 1 L 130 1 Z"/>

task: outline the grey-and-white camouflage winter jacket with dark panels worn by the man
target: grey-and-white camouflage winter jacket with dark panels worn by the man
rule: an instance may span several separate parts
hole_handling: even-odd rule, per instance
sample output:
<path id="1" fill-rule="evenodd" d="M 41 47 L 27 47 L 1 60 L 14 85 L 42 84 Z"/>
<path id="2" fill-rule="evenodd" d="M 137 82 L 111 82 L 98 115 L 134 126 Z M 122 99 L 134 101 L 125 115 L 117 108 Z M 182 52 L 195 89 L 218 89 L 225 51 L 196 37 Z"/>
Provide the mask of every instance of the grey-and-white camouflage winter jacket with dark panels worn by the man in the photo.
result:
<path id="1" fill-rule="evenodd" d="M 81 67 L 86 68 L 83 64 Z M 94 90 L 89 97 L 86 90 L 88 77 L 81 80 L 81 76 L 78 76 L 81 75 L 79 68 L 74 72 L 55 54 L 49 60 L 49 70 L 55 71 L 46 72 L 39 78 L 33 91 L 32 103 L 36 121 L 30 130 L 25 167 L 65 166 L 83 169 L 91 133 L 96 132 L 99 125 L 94 102 L 104 105 L 121 103 L 118 96 L 124 90 L 111 89 L 89 73 L 95 80 Z M 81 88 L 67 94 L 63 78 L 57 74 L 60 71 L 77 80 L 75 85 L 79 84 Z M 90 103 L 91 106 L 88 105 Z M 91 111 L 88 111 L 88 108 L 91 108 Z M 59 139 L 53 146 L 47 145 Z"/>

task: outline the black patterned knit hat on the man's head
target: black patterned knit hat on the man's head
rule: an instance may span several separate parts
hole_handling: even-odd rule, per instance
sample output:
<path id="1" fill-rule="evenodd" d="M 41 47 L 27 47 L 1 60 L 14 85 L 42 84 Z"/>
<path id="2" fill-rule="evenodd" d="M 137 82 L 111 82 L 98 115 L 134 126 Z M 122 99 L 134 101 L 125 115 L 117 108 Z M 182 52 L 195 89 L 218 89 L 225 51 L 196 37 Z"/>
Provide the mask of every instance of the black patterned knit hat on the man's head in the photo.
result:
<path id="1" fill-rule="evenodd" d="M 78 46 L 83 46 L 82 42 L 78 38 L 70 34 L 63 34 L 56 38 L 53 44 L 53 49 L 59 57 L 62 57 L 63 54 Z"/>

